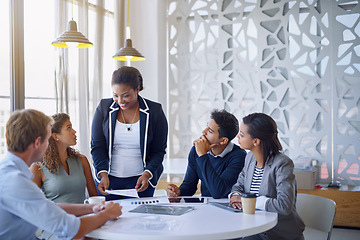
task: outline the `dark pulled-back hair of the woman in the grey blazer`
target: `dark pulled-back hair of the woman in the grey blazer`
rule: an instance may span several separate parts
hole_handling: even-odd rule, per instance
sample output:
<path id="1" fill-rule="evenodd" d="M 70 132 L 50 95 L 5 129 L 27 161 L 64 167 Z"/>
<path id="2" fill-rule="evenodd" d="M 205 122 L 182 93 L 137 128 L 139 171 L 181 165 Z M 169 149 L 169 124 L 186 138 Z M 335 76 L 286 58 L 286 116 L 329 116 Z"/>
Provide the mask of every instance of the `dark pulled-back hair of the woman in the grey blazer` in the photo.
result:
<path id="1" fill-rule="evenodd" d="M 252 113 L 243 118 L 252 138 L 261 140 L 265 161 L 282 150 L 277 136 L 277 125 L 274 119 L 264 113 Z"/>

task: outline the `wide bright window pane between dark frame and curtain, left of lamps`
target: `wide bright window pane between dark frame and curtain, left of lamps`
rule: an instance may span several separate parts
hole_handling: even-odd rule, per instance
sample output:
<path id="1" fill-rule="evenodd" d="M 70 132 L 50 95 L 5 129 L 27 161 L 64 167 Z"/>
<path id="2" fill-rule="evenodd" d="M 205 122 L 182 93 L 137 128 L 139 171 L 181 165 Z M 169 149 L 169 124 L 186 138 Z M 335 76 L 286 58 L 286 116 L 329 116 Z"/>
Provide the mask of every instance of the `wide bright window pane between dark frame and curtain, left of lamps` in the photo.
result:
<path id="1" fill-rule="evenodd" d="M 47 115 L 56 111 L 54 3 L 24 1 L 25 108 Z"/>

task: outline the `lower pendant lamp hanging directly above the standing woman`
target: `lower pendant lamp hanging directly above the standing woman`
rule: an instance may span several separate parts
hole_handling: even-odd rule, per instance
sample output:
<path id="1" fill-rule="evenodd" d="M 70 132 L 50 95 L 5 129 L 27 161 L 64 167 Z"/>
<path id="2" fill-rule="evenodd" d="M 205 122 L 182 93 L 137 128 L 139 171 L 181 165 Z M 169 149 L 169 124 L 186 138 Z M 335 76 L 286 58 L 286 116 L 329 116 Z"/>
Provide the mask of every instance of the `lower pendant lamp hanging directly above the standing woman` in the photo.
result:
<path id="1" fill-rule="evenodd" d="M 130 0 L 127 4 L 127 26 L 126 26 L 126 40 L 125 46 L 120 48 L 112 57 L 118 61 L 144 61 L 145 57 L 141 55 L 135 48 L 132 47 L 132 41 L 130 39 L 130 25 L 129 25 L 129 6 Z"/>

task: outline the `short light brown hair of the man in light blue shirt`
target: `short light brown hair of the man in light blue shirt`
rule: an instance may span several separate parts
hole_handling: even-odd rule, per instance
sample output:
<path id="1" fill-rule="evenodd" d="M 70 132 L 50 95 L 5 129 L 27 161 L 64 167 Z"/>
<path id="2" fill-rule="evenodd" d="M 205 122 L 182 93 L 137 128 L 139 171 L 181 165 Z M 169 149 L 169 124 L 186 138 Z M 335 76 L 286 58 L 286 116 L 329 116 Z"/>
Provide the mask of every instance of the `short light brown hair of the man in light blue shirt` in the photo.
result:
<path id="1" fill-rule="evenodd" d="M 13 112 L 6 123 L 6 144 L 10 152 L 24 152 L 27 147 L 41 137 L 41 143 L 48 141 L 47 127 L 53 119 L 34 109 Z"/>

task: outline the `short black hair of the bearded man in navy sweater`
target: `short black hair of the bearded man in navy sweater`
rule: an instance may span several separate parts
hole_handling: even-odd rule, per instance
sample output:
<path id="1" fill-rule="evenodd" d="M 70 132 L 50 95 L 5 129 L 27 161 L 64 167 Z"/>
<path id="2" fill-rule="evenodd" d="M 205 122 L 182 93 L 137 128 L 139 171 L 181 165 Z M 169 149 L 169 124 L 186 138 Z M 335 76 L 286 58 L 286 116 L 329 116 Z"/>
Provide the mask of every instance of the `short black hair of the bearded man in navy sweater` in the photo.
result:
<path id="1" fill-rule="evenodd" d="M 235 138 L 239 132 L 239 121 L 236 117 L 225 109 L 211 111 L 210 118 L 219 126 L 219 137 L 227 137 L 229 142 Z"/>

